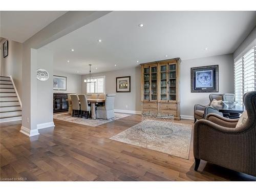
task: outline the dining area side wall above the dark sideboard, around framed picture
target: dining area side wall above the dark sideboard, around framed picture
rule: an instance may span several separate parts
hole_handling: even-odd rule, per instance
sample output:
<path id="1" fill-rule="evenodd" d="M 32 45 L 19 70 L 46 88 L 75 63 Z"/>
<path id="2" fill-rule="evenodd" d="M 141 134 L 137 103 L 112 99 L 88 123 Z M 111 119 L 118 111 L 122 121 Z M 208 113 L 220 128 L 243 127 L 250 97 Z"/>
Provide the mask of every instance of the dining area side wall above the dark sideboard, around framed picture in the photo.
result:
<path id="1" fill-rule="evenodd" d="M 71 73 L 65 73 L 58 70 L 53 70 L 53 75 L 67 77 L 67 90 L 53 90 L 54 93 L 82 93 L 82 80 L 81 75 L 75 75 Z"/>

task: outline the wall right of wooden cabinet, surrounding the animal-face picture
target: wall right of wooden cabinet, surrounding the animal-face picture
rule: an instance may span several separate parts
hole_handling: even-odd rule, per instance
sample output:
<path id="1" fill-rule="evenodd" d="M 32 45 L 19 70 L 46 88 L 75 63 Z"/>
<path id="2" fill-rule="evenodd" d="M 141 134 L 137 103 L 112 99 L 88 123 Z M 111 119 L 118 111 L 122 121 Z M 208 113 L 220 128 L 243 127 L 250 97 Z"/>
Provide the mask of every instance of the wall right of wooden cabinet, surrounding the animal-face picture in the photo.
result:
<path id="1" fill-rule="evenodd" d="M 183 60 L 180 68 L 180 114 L 194 115 L 195 104 L 208 104 L 210 93 L 191 93 L 190 68 L 219 65 L 219 93 L 234 93 L 232 54 Z"/>

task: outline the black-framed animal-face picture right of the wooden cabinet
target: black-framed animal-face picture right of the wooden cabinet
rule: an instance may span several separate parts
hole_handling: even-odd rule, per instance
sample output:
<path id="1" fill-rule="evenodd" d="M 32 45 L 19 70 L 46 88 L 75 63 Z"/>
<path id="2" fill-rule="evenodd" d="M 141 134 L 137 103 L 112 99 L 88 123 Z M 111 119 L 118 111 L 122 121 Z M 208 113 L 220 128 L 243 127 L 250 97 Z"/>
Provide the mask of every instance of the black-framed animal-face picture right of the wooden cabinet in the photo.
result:
<path id="1" fill-rule="evenodd" d="M 219 66 L 191 68 L 191 92 L 219 92 Z"/>

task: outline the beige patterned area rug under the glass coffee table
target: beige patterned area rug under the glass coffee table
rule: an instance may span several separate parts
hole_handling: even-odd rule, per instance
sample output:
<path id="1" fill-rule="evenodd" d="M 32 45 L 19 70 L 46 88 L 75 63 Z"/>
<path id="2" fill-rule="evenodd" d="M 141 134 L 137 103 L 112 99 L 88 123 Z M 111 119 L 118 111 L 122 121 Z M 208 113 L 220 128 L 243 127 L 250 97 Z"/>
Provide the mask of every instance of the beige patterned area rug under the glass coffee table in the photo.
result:
<path id="1" fill-rule="evenodd" d="M 146 121 L 148 124 L 148 121 L 152 120 Z M 130 127 L 110 139 L 188 159 L 191 125 L 170 123 L 169 127 L 171 127 L 171 130 L 167 132 L 168 135 L 163 135 L 163 132 L 166 134 L 166 130 L 160 130 L 157 127 L 151 127 L 146 132 L 143 132 L 141 129 L 143 123 L 145 121 Z"/>

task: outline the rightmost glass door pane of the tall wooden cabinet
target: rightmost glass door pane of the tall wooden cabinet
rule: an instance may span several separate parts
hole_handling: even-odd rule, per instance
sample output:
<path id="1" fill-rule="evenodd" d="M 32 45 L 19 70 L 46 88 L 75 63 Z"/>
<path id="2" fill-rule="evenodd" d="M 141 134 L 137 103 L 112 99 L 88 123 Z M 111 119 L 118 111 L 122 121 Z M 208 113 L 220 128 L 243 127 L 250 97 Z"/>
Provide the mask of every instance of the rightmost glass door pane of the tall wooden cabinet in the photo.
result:
<path id="1" fill-rule="evenodd" d="M 169 101 L 176 101 L 176 63 L 169 63 Z"/>

